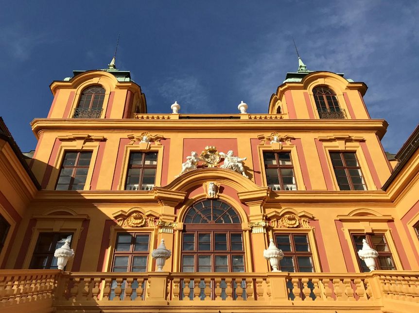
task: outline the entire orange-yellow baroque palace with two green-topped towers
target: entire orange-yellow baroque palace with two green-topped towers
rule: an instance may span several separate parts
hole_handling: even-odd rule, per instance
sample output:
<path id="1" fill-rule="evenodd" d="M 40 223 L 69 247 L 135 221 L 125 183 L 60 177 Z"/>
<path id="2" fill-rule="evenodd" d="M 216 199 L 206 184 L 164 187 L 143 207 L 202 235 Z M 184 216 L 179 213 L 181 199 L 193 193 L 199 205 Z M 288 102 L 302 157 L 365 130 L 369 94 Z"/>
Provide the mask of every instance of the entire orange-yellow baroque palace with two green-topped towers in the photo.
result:
<path id="1" fill-rule="evenodd" d="M 33 154 L 0 124 L 0 311 L 418 312 L 419 128 L 389 160 L 343 76 L 299 59 L 268 114 L 148 113 L 114 59 L 52 82 Z"/>

